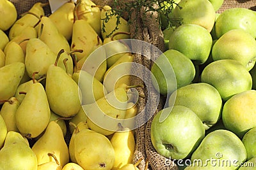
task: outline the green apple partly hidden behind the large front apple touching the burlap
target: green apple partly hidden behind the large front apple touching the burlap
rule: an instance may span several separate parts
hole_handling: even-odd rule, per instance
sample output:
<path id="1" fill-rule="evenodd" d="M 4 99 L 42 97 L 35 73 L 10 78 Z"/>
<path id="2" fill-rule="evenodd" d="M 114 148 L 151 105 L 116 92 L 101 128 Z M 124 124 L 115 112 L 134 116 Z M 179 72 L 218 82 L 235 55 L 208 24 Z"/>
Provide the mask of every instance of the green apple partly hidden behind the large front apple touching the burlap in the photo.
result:
<path id="1" fill-rule="evenodd" d="M 207 83 L 192 83 L 173 93 L 176 95 L 174 105 L 186 106 L 196 113 L 204 124 L 205 130 L 216 124 L 221 117 L 222 99 L 212 85 Z M 169 106 L 173 101 L 168 101 Z"/>

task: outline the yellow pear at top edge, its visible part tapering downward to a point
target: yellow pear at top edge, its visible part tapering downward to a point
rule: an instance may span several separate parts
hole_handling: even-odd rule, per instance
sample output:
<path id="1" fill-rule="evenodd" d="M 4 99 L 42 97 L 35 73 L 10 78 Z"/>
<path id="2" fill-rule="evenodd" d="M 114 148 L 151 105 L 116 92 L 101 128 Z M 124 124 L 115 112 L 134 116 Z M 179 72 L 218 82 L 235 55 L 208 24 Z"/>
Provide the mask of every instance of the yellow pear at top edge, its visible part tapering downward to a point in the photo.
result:
<path id="1" fill-rule="evenodd" d="M 74 23 L 74 8 L 73 1 L 69 1 L 60 6 L 54 13 L 49 15 L 58 31 L 69 41 L 72 37 L 72 27 Z"/>

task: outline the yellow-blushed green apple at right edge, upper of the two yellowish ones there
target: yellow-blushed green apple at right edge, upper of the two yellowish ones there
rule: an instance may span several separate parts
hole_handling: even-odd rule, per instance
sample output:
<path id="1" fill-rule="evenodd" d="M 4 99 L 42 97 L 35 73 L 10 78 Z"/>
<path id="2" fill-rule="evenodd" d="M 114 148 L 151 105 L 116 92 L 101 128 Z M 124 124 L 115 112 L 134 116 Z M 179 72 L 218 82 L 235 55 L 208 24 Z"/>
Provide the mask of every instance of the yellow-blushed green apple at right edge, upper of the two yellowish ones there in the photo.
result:
<path id="1" fill-rule="evenodd" d="M 232 29 L 221 36 L 212 46 L 212 59 L 237 60 L 248 71 L 255 65 L 256 40 L 243 29 Z"/>

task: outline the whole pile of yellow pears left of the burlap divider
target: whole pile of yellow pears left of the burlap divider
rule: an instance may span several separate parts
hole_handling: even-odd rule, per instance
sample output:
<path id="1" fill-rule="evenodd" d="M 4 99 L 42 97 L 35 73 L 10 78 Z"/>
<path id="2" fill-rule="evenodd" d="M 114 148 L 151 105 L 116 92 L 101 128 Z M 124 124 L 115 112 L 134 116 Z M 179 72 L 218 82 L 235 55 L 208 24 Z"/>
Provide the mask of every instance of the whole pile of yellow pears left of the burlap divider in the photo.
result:
<path id="1" fill-rule="evenodd" d="M 116 41 L 130 38 L 127 21 L 115 29 L 111 7 L 90 0 L 49 16 L 47 5 L 17 16 L 0 0 L 0 169 L 138 169 L 134 131 L 122 125 L 138 113 L 134 55 Z M 91 117 L 120 122 L 106 129 Z"/>

